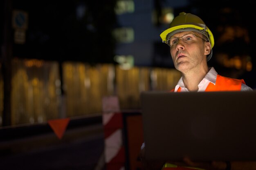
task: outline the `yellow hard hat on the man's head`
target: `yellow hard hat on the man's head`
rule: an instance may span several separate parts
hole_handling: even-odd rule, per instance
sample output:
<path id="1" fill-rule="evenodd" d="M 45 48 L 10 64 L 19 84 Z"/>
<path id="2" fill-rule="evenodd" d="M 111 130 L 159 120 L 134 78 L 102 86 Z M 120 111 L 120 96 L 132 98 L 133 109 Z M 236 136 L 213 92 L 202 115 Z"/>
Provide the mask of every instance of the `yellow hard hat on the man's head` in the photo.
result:
<path id="1" fill-rule="evenodd" d="M 171 22 L 169 28 L 160 34 L 162 41 L 167 44 L 167 40 L 174 35 L 182 31 L 196 31 L 205 35 L 211 43 L 211 53 L 207 56 L 207 61 L 211 59 L 212 48 L 214 46 L 214 38 L 210 29 L 204 24 L 203 20 L 191 13 L 182 12 L 175 17 Z"/>

